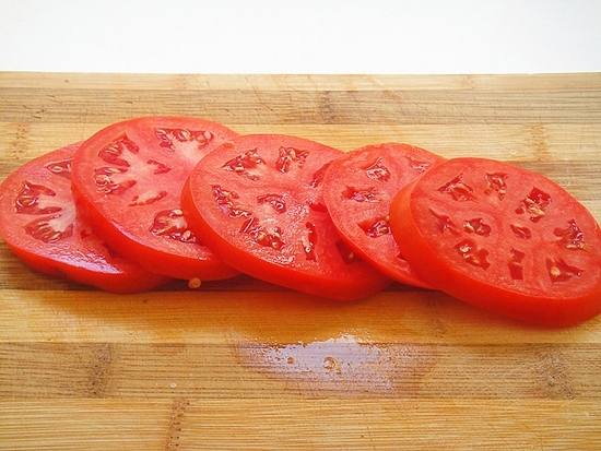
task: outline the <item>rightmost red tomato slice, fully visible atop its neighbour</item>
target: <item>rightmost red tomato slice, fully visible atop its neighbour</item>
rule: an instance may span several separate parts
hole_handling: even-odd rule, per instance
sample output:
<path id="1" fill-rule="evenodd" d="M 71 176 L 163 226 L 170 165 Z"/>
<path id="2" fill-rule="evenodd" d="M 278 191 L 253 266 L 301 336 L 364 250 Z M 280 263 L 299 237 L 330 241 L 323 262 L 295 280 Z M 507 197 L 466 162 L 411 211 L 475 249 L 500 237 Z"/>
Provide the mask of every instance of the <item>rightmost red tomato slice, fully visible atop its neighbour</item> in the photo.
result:
<path id="1" fill-rule="evenodd" d="M 423 277 L 503 314 L 570 325 L 601 311 L 601 230 L 547 178 L 455 158 L 392 200 L 390 226 Z"/>

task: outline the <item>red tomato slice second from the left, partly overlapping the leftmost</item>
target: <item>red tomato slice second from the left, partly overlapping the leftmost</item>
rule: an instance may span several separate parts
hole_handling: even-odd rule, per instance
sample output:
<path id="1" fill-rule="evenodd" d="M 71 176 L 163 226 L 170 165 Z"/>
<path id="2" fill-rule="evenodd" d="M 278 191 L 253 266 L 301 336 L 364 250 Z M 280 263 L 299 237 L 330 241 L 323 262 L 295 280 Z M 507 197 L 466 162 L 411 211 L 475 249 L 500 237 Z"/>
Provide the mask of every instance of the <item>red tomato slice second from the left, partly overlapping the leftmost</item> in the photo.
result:
<path id="1" fill-rule="evenodd" d="M 235 274 L 201 242 L 181 211 L 181 188 L 201 157 L 237 133 L 195 118 L 114 123 L 73 161 L 78 209 L 110 246 L 148 271 L 177 278 Z"/>

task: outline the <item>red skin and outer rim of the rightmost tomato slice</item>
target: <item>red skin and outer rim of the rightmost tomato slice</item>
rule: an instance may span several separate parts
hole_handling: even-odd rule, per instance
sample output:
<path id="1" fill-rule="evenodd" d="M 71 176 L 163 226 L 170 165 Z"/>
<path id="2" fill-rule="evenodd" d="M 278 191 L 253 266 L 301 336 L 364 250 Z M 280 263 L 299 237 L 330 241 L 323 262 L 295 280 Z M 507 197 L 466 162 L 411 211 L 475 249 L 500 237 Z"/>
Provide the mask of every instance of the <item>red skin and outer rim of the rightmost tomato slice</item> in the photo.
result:
<path id="1" fill-rule="evenodd" d="M 490 164 L 491 167 L 500 168 L 509 174 L 512 174 L 514 170 L 509 164 L 485 158 L 466 157 L 453 158 L 448 162 L 451 162 L 449 165 L 455 166 L 456 173 L 460 173 L 461 168 L 471 167 L 473 164 L 481 165 L 482 162 L 483 165 Z M 550 289 L 537 288 L 537 283 L 532 283 L 533 287 L 530 288 L 508 287 L 507 276 L 500 277 L 491 274 L 491 278 L 486 281 L 482 276 L 467 275 L 460 264 L 449 263 L 448 257 L 440 254 L 443 245 L 439 248 L 437 248 L 438 245 L 433 245 L 436 241 L 444 241 L 445 238 L 429 229 L 425 230 L 421 226 L 426 209 L 424 205 L 437 205 L 431 198 L 426 199 L 421 188 L 423 188 L 425 181 L 429 186 L 436 186 L 436 181 L 438 181 L 438 186 L 444 185 L 441 180 L 435 178 L 437 175 L 436 169 L 440 170 L 441 166 L 444 167 L 445 164 L 401 189 L 390 206 L 392 234 L 398 237 L 403 256 L 426 281 L 440 290 L 473 306 L 543 327 L 570 327 L 589 320 L 601 312 L 601 253 L 598 246 L 601 245 L 601 230 L 584 205 L 565 192 L 563 188 L 543 176 L 529 174 L 525 178 L 522 177 L 520 182 L 523 185 L 525 192 L 528 192 L 533 185 L 539 185 L 544 186 L 545 190 L 552 192 L 552 197 L 556 200 L 565 195 L 565 201 L 562 201 L 564 204 L 562 210 L 574 213 L 574 216 L 577 216 L 582 224 L 587 224 L 587 240 L 592 244 L 593 249 L 587 256 L 588 265 L 585 270 L 591 275 L 587 280 L 586 288 L 578 294 L 573 294 L 569 289 L 551 292 Z M 448 174 L 456 173 L 449 171 Z M 517 173 L 526 174 L 523 169 L 519 168 L 517 168 Z M 429 180 L 434 181 L 431 182 Z M 567 199 L 568 197 L 569 199 Z M 478 210 L 474 210 L 474 216 L 478 215 Z M 498 221 L 499 223 L 509 223 L 503 217 Z M 453 242 L 459 240 L 457 238 Z M 503 240 L 497 241 L 498 248 L 503 248 L 502 244 Z M 541 244 L 541 248 L 533 248 L 532 254 L 544 253 L 544 246 Z M 496 250 L 491 251 L 491 254 L 495 252 Z M 535 260 L 535 258 L 532 259 Z M 542 277 L 538 282 L 540 286 L 549 286 Z M 561 284 L 561 282 L 557 283 Z"/>

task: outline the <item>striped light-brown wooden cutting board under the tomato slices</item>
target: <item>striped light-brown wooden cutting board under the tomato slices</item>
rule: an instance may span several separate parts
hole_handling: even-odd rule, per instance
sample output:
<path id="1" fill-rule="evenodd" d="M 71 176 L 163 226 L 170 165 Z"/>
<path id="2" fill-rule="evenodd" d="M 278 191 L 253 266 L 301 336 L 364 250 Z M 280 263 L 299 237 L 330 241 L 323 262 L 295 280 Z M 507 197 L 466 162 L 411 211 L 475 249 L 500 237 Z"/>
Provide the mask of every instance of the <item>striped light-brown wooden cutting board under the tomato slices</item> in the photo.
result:
<path id="1" fill-rule="evenodd" d="M 349 151 L 514 162 L 601 219 L 601 74 L 0 74 L 0 179 L 145 115 Z M 597 450 L 601 318 L 546 330 L 393 285 L 330 302 L 240 276 L 118 296 L 0 244 L 2 450 Z"/>

